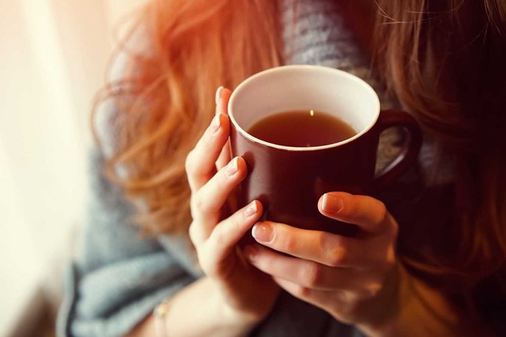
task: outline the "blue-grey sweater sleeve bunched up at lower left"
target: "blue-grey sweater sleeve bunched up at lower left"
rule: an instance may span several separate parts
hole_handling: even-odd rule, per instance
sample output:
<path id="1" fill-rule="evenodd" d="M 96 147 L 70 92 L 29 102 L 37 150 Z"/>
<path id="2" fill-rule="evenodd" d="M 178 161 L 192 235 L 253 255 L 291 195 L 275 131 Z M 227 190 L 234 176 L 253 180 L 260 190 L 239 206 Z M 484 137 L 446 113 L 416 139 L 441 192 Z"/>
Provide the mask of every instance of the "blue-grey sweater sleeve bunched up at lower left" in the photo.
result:
<path id="1" fill-rule="evenodd" d="M 164 298 L 195 280 L 158 240 L 139 234 L 119 188 L 91 155 L 91 202 L 64 279 L 58 336 L 122 336 Z"/>

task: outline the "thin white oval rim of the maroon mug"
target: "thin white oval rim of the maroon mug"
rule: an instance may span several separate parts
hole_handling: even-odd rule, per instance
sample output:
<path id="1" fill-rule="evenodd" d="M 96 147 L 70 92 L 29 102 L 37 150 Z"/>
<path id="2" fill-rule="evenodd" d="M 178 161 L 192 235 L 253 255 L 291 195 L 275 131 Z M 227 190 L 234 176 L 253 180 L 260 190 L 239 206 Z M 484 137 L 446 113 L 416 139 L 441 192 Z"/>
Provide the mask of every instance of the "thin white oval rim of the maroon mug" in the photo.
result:
<path id="1" fill-rule="evenodd" d="M 276 73 L 276 72 L 292 71 L 292 70 L 296 70 L 296 69 L 315 69 L 318 71 L 331 72 L 331 73 L 334 73 L 335 75 L 344 76 L 344 77 L 348 78 L 349 80 L 354 80 L 356 83 L 359 83 L 360 85 L 365 87 L 366 90 L 369 90 L 369 92 L 371 92 L 371 94 L 373 96 L 374 105 L 376 105 L 376 112 L 375 112 L 374 118 L 369 123 L 369 125 L 367 125 L 366 128 L 364 128 L 362 131 L 358 132 L 353 137 L 349 137 L 348 139 L 344 139 L 343 141 L 338 141 L 336 143 L 320 145 L 320 146 L 304 146 L 304 147 L 302 147 L 302 146 L 285 146 L 285 145 L 270 143 L 269 141 L 264 141 L 262 139 L 259 139 L 259 138 L 256 138 L 256 137 L 250 135 L 246 130 L 244 130 L 237 123 L 237 121 L 234 117 L 234 113 L 232 112 L 232 106 L 234 105 L 234 100 L 235 100 L 236 96 L 238 95 L 238 93 L 241 92 L 241 89 L 245 85 L 256 80 L 257 78 L 263 77 L 268 74 Z M 238 130 L 238 132 L 240 132 L 241 135 L 243 135 L 246 139 L 248 139 L 254 143 L 262 144 L 263 146 L 267 146 L 269 148 L 277 148 L 279 150 L 289 150 L 289 151 L 324 150 L 327 148 L 335 148 L 335 147 L 350 143 L 351 141 L 354 141 L 355 139 L 362 137 L 367 132 L 369 132 L 369 130 L 372 129 L 372 127 L 376 124 L 376 121 L 378 121 L 380 111 L 381 111 L 381 105 L 380 105 L 380 101 L 378 98 L 378 94 L 376 94 L 376 92 L 371 87 L 371 85 L 369 85 L 369 83 L 365 82 L 365 80 L 363 80 L 362 78 L 359 78 L 358 76 L 355 76 L 354 74 L 350 74 L 347 71 L 342 71 L 340 69 L 335 69 L 335 68 L 331 68 L 331 67 L 324 67 L 324 66 L 319 66 L 319 65 L 310 65 L 310 64 L 290 64 L 290 65 L 283 65 L 283 66 L 273 67 L 270 69 L 265 69 L 263 71 L 259 71 L 258 73 L 246 78 L 245 80 L 243 80 L 243 82 L 239 83 L 239 85 L 236 87 L 236 89 L 234 89 L 234 92 L 232 92 L 232 95 L 229 98 L 229 104 L 227 107 L 227 112 L 228 112 L 230 121 L 232 121 L 232 124 L 234 124 L 234 126 Z"/>

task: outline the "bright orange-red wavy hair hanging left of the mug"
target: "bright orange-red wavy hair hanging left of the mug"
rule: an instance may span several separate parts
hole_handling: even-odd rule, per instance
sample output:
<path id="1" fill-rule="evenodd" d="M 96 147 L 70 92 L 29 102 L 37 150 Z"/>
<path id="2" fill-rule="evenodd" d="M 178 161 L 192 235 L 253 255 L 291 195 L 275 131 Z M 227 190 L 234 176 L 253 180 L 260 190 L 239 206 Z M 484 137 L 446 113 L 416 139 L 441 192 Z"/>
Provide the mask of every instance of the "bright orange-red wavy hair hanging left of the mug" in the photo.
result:
<path id="1" fill-rule="evenodd" d="M 145 232 L 187 233 L 186 155 L 214 115 L 218 86 L 234 88 L 281 64 L 276 2 L 153 0 L 133 26 L 150 50 L 123 45 L 122 78 L 103 89 L 94 111 L 114 102 L 119 127 L 106 173 L 137 206 L 135 220 Z"/>

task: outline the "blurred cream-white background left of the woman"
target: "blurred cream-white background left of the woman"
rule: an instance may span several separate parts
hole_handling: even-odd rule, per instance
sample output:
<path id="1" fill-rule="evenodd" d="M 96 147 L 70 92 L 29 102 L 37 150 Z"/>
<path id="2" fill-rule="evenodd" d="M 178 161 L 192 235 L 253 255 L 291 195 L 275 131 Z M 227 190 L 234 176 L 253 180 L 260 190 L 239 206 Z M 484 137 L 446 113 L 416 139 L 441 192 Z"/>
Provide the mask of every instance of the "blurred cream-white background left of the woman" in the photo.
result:
<path id="1" fill-rule="evenodd" d="M 53 336 L 85 210 L 91 103 L 143 2 L 0 0 L 0 336 Z"/>

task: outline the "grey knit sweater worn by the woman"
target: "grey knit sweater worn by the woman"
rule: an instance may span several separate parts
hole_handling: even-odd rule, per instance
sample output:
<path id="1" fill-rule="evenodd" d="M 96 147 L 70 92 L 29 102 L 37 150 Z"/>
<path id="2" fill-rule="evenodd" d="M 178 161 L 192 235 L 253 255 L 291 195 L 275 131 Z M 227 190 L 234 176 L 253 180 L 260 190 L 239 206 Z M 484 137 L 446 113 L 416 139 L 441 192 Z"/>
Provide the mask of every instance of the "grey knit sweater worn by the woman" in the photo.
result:
<path id="1" fill-rule="evenodd" d="M 396 105 L 368 75 L 367 58 L 340 14 L 339 1 L 300 0 L 293 22 L 293 1 L 282 0 L 284 37 L 289 63 L 320 64 L 350 71 L 371 83 L 383 107 Z M 106 147 L 114 132 L 103 123 Z M 395 132 L 383 137 L 379 166 L 396 152 Z M 112 135 L 112 136 L 111 136 Z M 108 143 L 108 144 L 107 144 Z M 105 154 L 107 155 L 107 153 Z M 58 336 L 112 337 L 130 331 L 164 298 L 202 276 L 195 257 L 179 240 L 146 239 L 129 221 L 132 207 L 121 191 L 101 174 L 103 154 L 91 153 L 91 202 L 80 233 L 76 258 L 65 275 Z M 252 336 L 360 336 L 328 313 L 281 293 L 274 310 Z"/>

